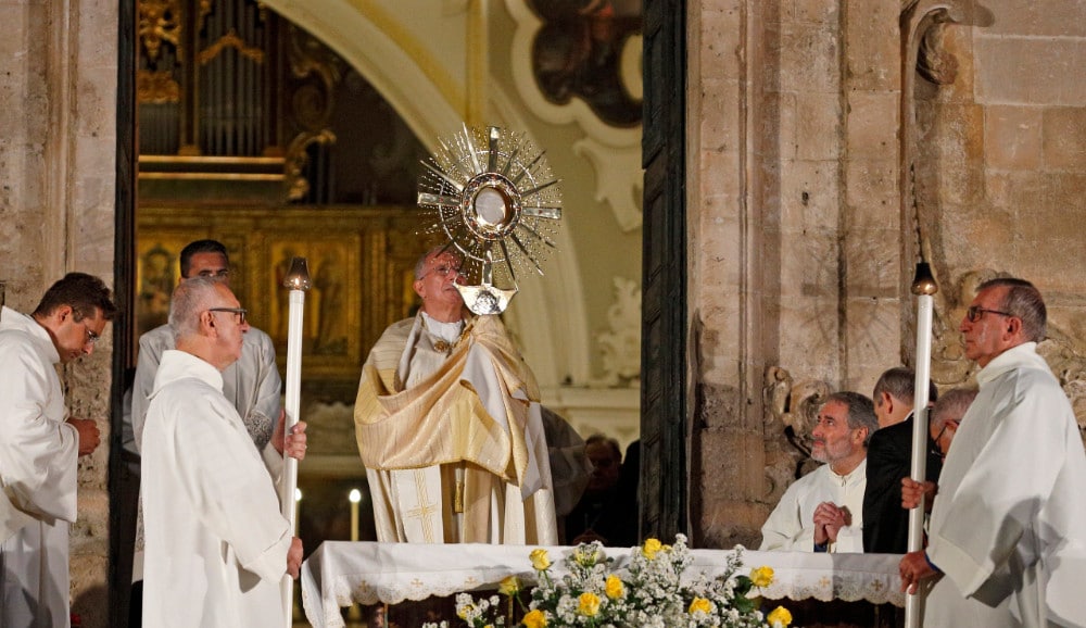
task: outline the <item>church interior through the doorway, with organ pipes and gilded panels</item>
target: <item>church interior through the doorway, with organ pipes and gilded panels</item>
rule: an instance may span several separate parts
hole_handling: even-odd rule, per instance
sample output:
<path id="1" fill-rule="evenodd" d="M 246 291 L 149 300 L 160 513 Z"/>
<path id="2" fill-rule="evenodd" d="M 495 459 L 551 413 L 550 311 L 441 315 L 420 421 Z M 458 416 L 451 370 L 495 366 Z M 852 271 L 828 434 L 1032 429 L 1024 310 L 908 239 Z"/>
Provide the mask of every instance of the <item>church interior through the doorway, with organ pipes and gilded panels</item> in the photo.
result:
<path id="1" fill-rule="evenodd" d="M 591 121 L 591 134 L 623 142 L 615 150 L 584 130 L 570 146 L 540 142 L 554 171 L 570 174 L 558 175 L 567 233 L 608 233 L 614 247 L 593 254 L 586 242 L 567 236 L 545 276 L 521 278 L 526 294 L 507 314 L 536 369 L 543 402 L 585 437 L 607 434 L 623 449 L 639 431 L 640 365 L 641 21 L 640 7 L 629 4 L 609 7 L 605 20 L 582 14 L 576 3 L 528 3 L 512 12 L 498 5 L 485 15 L 479 8 L 446 7 L 435 15 L 437 38 L 406 33 L 396 42 L 420 67 L 418 80 L 451 83 L 483 63 L 495 72 L 480 83 L 482 91 L 505 91 L 513 101 L 520 90 L 521 103 L 510 104 L 509 112 L 469 124 L 519 131 L 531 113 L 523 103 L 560 112 L 578 99 L 586 105 L 580 115 Z M 380 23 L 406 16 L 399 7 L 388 9 L 365 17 Z M 349 540 L 348 495 L 358 489 L 364 516 L 356 533 L 372 540 L 365 470 L 353 438 L 358 376 L 381 331 L 419 304 L 412 290 L 414 261 L 442 242 L 426 233 L 427 218 L 415 205 L 420 161 L 458 129 L 427 137 L 439 129 L 411 128 L 356 70 L 362 62 L 352 63 L 302 25 L 252 0 L 140 0 L 137 11 L 134 334 L 138 338 L 165 323 L 180 249 L 197 238 L 215 238 L 230 251 L 231 286 L 255 305 L 250 319 L 275 340 L 285 372 L 282 278 L 293 256 L 305 256 L 314 285 L 303 331 L 301 416 L 310 424 L 313 447 L 299 481 L 301 535 L 311 549 L 321 539 Z M 483 20 L 502 23 L 495 30 L 513 37 L 492 41 L 491 51 L 477 50 L 480 42 L 468 34 Z M 388 24 L 384 29 L 394 30 Z M 492 52 L 497 50 L 503 53 Z M 504 83 L 498 70 L 525 74 L 529 81 Z M 454 90 L 449 97 L 472 98 L 464 86 L 435 87 Z M 422 104 L 411 113 L 429 118 L 437 115 L 432 109 Z M 546 120 L 535 125 L 528 125 L 530 136 L 550 136 Z M 593 172 L 592 160 L 617 163 Z M 603 184 L 594 180 L 605 177 L 614 189 L 601 190 Z M 580 277 L 578 266 L 585 261 L 616 275 Z M 558 285 L 569 276 L 572 286 Z M 585 299 L 588 293 L 603 298 Z M 541 300 L 551 306 L 538 307 Z M 594 329 L 590 321 L 606 326 Z M 580 346 L 563 353 L 564 338 Z M 547 354 L 540 355 L 544 348 Z"/>

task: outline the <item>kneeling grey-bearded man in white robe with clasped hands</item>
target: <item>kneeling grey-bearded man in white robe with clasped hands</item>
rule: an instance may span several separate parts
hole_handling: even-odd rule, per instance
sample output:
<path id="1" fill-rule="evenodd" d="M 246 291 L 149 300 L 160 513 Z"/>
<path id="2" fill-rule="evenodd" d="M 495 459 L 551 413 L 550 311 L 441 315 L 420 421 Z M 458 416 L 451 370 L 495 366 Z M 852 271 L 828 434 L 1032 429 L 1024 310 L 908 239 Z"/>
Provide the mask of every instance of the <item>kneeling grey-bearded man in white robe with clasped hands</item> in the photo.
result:
<path id="1" fill-rule="evenodd" d="M 863 551 L 867 448 L 877 428 L 867 397 L 845 391 L 826 398 L 811 432 L 811 457 L 825 464 L 784 492 L 761 527 L 759 550 Z"/>

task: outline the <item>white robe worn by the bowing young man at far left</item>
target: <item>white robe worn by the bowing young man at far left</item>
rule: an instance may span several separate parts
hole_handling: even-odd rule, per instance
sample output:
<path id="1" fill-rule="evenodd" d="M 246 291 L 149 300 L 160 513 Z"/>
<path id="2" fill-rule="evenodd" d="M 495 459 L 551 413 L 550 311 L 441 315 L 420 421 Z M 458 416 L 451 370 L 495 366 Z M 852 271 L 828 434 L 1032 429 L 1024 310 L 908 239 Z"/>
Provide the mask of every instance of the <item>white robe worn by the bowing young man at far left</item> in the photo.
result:
<path id="1" fill-rule="evenodd" d="M 68 524 L 79 436 L 56 376 L 60 355 L 34 318 L 0 313 L 0 626 L 66 627 Z"/>

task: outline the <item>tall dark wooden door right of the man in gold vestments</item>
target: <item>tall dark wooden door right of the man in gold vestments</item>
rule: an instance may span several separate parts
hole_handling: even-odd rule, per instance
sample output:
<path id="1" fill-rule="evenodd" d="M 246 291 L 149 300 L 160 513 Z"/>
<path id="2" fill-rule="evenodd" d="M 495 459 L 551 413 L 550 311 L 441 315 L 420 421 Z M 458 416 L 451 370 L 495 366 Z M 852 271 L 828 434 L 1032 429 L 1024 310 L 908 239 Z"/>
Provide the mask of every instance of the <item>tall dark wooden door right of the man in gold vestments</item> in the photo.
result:
<path id="1" fill-rule="evenodd" d="M 687 532 L 686 2 L 645 0 L 642 537 Z"/>

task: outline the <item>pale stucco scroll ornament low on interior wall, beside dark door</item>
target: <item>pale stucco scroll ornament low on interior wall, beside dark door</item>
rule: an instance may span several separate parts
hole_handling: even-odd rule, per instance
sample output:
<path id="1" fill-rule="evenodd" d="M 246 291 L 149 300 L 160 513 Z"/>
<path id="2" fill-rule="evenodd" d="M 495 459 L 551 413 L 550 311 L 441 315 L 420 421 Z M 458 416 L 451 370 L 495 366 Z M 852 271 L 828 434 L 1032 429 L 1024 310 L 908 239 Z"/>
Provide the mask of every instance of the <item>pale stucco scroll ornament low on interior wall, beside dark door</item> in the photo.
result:
<path id="1" fill-rule="evenodd" d="M 609 331 L 596 336 L 603 351 L 604 376 L 613 387 L 635 387 L 641 378 L 641 286 L 615 277 L 615 302 L 607 309 Z"/>

